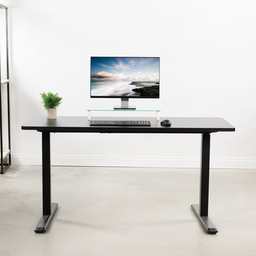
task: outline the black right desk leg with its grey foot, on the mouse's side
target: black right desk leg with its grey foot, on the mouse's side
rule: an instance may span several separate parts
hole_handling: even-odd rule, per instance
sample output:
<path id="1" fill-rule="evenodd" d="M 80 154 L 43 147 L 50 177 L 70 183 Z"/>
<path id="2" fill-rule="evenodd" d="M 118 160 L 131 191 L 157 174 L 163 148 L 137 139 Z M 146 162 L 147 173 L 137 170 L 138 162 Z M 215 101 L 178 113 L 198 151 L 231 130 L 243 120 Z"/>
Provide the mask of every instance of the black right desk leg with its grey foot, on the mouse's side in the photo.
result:
<path id="1" fill-rule="evenodd" d="M 209 165 L 210 165 L 210 134 L 202 134 L 201 142 L 201 175 L 200 175 L 200 202 L 191 207 L 200 222 L 209 234 L 218 232 L 214 223 L 208 217 L 209 201 Z"/>

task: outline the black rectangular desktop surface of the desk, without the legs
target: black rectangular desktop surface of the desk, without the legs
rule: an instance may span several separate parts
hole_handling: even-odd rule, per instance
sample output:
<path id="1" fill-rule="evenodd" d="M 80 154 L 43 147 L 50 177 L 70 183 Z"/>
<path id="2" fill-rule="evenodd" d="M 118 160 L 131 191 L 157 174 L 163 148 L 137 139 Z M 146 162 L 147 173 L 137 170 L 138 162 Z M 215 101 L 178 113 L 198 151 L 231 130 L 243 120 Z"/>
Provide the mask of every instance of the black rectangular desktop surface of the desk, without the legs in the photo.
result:
<path id="1" fill-rule="evenodd" d="M 169 119 L 170 127 L 161 126 L 160 122 Z M 92 120 L 145 120 L 150 121 L 150 127 L 122 126 L 90 126 L 87 116 L 58 116 L 57 119 L 47 119 L 46 116 L 34 116 L 23 124 L 23 130 L 38 130 L 40 132 L 100 132 L 100 133 L 156 133 L 156 134 L 202 134 L 210 132 L 233 132 L 235 128 L 223 118 L 156 118 L 147 117 L 94 117 Z"/>

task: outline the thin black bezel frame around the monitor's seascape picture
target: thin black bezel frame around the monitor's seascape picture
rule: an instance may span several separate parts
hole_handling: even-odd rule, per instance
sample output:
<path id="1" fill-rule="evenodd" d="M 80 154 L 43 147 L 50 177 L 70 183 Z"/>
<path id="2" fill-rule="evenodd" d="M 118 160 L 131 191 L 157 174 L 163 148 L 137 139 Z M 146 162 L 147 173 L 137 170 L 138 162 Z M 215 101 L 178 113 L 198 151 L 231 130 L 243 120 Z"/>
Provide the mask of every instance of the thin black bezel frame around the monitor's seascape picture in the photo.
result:
<path id="1" fill-rule="evenodd" d="M 92 87 L 91 87 L 92 58 L 159 58 L 159 96 L 92 96 Z M 90 98 L 160 98 L 160 57 L 91 56 L 90 57 Z"/>

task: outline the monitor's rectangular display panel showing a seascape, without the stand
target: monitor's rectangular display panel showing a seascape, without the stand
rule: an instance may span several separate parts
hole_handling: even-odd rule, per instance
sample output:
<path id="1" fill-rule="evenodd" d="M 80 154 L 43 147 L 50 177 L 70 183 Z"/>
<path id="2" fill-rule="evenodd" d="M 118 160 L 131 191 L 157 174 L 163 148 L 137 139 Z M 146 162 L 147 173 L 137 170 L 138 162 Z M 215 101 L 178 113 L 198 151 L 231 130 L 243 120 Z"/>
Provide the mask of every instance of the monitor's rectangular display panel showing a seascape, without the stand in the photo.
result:
<path id="1" fill-rule="evenodd" d="M 158 57 L 91 57 L 91 97 L 159 98 Z"/>

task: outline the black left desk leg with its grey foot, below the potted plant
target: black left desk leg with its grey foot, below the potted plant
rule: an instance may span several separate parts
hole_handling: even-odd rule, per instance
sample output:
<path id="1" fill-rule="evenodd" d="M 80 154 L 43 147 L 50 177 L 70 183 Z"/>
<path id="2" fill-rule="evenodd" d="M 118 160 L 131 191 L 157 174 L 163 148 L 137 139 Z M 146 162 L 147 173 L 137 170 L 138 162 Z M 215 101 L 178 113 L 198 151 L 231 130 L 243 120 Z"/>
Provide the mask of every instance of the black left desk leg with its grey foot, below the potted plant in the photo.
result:
<path id="1" fill-rule="evenodd" d="M 42 217 L 34 232 L 47 230 L 57 207 L 56 202 L 50 202 L 50 132 L 42 132 Z"/>

